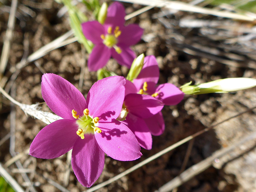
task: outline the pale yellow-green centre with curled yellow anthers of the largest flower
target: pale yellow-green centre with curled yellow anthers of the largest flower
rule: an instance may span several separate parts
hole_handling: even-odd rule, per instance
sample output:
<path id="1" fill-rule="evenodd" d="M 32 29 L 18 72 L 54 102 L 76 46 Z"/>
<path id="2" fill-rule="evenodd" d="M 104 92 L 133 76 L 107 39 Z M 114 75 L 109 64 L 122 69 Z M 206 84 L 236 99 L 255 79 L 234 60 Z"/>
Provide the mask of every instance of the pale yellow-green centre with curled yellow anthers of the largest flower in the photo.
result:
<path id="1" fill-rule="evenodd" d="M 89 110 L 84 110 L 84 115 L 79 118 L 79 115 L 77 115 L 77 112 L 75 110 L 72 110 L 72 116 L 77 119 L 78 124 L 78 130 L 77 135 L 81 137 L 81 139 L 84 139 L 84 134 L 90 134 L 90 133 L 101 133 L 101 129 L 99 127 L 96 127 L 95 124 L 98 123 L 100 120 L 99 117 L 91 117 L 89 115 Z"/>

